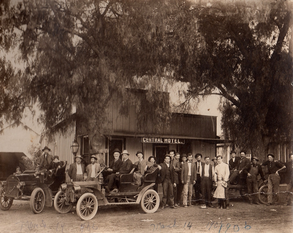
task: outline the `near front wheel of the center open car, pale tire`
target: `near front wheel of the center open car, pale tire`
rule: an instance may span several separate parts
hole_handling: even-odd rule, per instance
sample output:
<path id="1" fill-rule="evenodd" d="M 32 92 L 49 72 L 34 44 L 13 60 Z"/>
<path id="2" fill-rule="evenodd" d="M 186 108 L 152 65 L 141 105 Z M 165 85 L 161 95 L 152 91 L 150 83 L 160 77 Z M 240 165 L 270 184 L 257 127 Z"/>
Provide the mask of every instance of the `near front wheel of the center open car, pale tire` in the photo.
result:
<path id="1" fill-rule="evenodd" d="M 98 210 L 98 200 L 92 193 L 84 193 L 76 205 L 76 212 L 82 220 L 90 220 L 95 217 Z"/>

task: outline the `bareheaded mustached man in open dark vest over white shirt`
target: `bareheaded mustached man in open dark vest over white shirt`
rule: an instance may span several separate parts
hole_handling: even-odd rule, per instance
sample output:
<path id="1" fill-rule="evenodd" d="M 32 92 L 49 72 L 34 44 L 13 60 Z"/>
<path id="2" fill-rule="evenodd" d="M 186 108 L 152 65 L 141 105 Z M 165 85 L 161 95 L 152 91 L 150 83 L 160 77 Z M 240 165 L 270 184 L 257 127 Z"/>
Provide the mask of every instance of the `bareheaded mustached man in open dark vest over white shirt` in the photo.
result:
<path id="1" fill-rule="evenodd" d="M 208 207 L 214 208 L 212 205 L 212 188 L 213 188 L 213 176 L 214 166 L 210 164 L 210 157 L 204 157 L 205 164 L 201 170 L 201 193 L 205 200 L 205 204 Z"/>

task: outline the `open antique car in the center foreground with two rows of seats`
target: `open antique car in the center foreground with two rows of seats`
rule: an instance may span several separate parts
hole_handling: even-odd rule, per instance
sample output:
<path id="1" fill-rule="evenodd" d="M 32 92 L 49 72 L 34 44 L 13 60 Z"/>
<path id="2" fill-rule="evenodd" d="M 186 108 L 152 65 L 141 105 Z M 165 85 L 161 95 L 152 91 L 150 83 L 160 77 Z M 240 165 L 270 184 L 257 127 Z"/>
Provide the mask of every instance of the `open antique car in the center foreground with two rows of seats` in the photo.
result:
<path id="1" fill-rule="evenodd" d="M 105 164 L 101 164 L 102 170 L 108 169 Z M 105 193 L 102 188 L 102 171 L 96 175 L 98 181 L 69 182 L 60 185 L 60 193 L 54 198 L 54 207 L 59 213 L 66 213 L 68 206 L 76 205 L 76 212 L 82 220 L 90 220 L 97 213 L 98 206 L 101 205 L 125 205 L 140 204 L 146 213 L 153 213 L 159 208 L 160 199 L 158 193 L 153 190 L 157 167 L 151 167 L 144 176 L 140 186 L 132 184 L 134 168 L 128 174 L 121 174 L 120 182 L 117 184 L 117 193 Z"/>

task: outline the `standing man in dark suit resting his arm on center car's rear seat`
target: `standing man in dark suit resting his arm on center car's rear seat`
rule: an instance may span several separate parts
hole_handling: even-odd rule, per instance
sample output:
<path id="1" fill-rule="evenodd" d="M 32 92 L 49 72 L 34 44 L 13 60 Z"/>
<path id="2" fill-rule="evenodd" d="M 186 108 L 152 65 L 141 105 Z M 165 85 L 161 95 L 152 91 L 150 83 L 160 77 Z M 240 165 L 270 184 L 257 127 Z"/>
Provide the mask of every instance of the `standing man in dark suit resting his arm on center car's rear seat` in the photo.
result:
<path id="1" fill-rule="evenodd" d="M 170 163 L 170 155 L 166 154 L 164 157 L 164 163 L 154 164 L 154 167 L 159 167 L 161 170 L 161 178 L 162 178 L 162 186 L 163 186 L 163 198 L 162 198 L 162 209 L 166 208 L 167 196 L 172 209 L 177 209 L 174 205 L 174 195 L 173 195 L 173 187 L 176 187 L 175 183 L 175 169 L 169 164 Z"/>

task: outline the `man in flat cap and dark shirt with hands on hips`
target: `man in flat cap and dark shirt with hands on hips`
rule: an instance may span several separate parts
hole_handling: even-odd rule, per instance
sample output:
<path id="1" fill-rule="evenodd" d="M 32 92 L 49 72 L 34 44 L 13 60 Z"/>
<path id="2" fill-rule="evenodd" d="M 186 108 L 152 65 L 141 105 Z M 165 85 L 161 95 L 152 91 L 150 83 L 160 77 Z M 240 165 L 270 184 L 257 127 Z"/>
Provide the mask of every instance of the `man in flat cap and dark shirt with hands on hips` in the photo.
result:
<path id="1" fill-rule="evenodd" d="M 264 163 L 262 163 L 262 166 L 268 167 L 268 206 L 272 205 L 273 203 L 273 196 L 275 197 L 275 205 L 278 205 L 279 201 L 279 184 L 280 184 L 280 176 L 279 171 L 285 169 L 283 163 L 280 163 L 278 161 L 274 161 L 275 156 L 273 154 L 267 155 L 268 160 Z"/>

